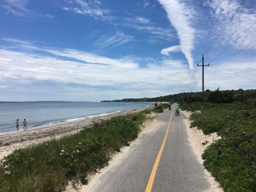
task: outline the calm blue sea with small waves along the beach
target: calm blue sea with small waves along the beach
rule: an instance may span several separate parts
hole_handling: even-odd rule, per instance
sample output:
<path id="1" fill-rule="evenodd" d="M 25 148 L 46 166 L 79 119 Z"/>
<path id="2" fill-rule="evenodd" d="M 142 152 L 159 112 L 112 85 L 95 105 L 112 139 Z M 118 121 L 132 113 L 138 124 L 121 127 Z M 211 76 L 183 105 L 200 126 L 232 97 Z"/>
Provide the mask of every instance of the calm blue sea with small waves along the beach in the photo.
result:
<path id="1" fill-rule="evenodd" d="M 16 131 L 26 119 L 28 129 L 78 121 L 85 118 L 117 113 L 126 109 L 152 106 L 152 102 L 0 102 L 0 134 Z"/>

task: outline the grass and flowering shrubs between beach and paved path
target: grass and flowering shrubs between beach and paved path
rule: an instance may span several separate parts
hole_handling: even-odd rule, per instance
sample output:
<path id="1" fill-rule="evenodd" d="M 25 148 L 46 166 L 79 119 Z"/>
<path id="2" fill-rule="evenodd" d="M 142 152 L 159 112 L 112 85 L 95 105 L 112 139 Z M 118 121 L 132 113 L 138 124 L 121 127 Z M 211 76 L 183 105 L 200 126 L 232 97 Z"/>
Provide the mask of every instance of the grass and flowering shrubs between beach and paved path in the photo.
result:
<path id="1" fill-rule="evenodd" d="M 69 181 L 86 184 L 87 175 L 106 166 L 113 151 L 138 137 L 145 113 L 102 120 L 76 134 L 14 150 L 1 161 L 0 191 L 63 191 Z"/>

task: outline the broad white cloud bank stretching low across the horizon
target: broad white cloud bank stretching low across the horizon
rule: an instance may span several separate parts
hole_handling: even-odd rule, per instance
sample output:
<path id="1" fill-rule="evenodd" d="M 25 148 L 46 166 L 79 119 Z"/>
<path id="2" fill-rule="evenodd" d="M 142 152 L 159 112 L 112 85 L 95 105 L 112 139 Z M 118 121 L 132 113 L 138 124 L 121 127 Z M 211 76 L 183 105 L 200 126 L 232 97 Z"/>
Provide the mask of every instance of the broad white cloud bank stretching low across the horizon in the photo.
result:
<path id="1" fill-rule="evenodd" d="M 73 101 L 158 97 L 182 92 L 193 74 L 184 62 L 178 60 L 154 63 L 149 58 L 148 65 L 139 68 L 135 61 L 142 58 L 112 59 L 74 49 L 37 47 L 18 39 L 9 40 L 14 43 L 11 48 L 0 49 L 0 91 L 3 93 L 0 100 L 42 100 L 46 95 L 44 100 Z M 15 44 L 15 50 L 19 51 L 11 51 Z M 29 48 L 21 44 L 29 45 Z M 36 49 L 29 53 L 31 47 Z M 177 50 L 177 47 L 172 49 Z M 37 50 L 53 55 L 46 57 L 45 53 L 44 56 L 36 53 Z M 218 86 L 222 90 L 252 89 L 256 81 L 256 66 L 252 60 L 256 58 L 250 58 L 250 61 L 234 59 L 210 73 L 207 70 L 213 66 L 208 67 L 205 89 L 214 90 Z M 201 70 L 196 72 L 185 91 L 201 91 L 201 82 L 197 81 L 201 80 Z"/>

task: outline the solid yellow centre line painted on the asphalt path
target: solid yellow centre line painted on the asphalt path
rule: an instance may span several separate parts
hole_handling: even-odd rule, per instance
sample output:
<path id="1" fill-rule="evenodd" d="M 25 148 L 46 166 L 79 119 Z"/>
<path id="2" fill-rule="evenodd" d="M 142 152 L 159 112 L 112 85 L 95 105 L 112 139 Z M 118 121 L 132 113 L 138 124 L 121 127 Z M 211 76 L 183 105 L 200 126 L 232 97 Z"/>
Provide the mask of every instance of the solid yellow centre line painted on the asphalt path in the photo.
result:
<path id="1" fill-rule="evenodd" d="M 173 111 L 174 110 L 172 110 L 172 115 L 173 115 Z M 164 150 L 164 146 L 165 146 L 165 142 L 166 142 L 166 139 L 167 139 L 167 135 L 168 135 L 168 132 L 169 132 L 169 129 L 170 129 L 172 115 L 170 117 L 167 129 L 166 129 L 166 132 L 165 132 L 165 135 L 164 135 L 164 140 L 163 140 L 162 146 L 161 146 L 161 148 L 160 148 L 160 150 L 158 152 L 158 155 L 156 157 L 156 162 L 155 162 L 155 164 L 153 166 L 153 169 L 152 169 L 152 172 L 150 174 L 150 177 L 149 177 L 149 180 L 148 180 L 148 185 L 147 185 L 147 188 L 146 188 L 145 192 L 150 192 L 151 189 L 152 189 L 152 186 L 153 186 L 153 183 L 154 183 L 154 180 L 155 180 L 155 176 L 156 176 L 156 170 L 157 170 L 160 158 L 162 156 L 162 153 L 163 153 L 163 150 Z"/>

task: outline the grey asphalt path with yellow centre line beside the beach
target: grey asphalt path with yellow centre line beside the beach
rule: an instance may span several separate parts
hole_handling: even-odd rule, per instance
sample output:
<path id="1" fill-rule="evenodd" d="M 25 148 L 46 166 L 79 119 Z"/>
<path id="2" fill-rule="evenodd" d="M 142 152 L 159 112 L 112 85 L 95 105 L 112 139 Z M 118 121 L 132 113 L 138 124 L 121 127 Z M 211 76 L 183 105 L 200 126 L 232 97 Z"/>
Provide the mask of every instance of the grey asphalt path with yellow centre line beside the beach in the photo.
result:
<path id="1" fill-rule="evenodd" d="M 90 191 L 186 192 L 209 189 L 210 183 L 203 165 L 199 164 L 191 149 L 183 119 L 183 114 L 175 116 L 173 106 L 172 110 L 164 110 L 154 120 L 158 122 L 154 131 L 141 134 L 119 163 L 111 165 Z"/>

